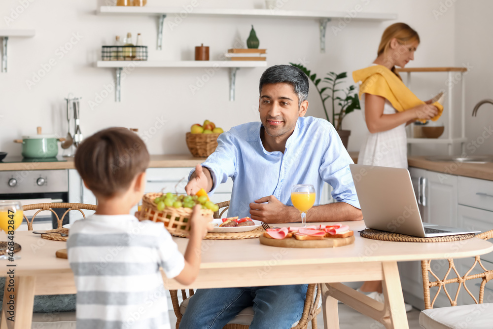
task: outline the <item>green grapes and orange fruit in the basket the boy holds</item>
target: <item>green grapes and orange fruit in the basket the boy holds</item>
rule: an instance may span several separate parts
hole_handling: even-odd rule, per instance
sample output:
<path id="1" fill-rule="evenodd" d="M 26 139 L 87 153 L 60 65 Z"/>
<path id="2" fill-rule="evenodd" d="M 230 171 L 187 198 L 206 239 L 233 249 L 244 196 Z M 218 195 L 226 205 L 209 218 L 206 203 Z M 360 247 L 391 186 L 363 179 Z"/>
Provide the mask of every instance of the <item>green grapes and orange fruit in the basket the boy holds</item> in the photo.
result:
<path id="1" fill-rule="evenodd" d="M 209 200 L 207 192 L 203 189 L 199 190 L 197 195 L 184 195 L 168 192 L 155 198 L 154 203 L 159 211 L 162 211 L 165 207 L 193 208 L 196 204 L 200 204 L 202 209 L 210 209 L 213 212 L 219 210 L 219 206 Z"/>

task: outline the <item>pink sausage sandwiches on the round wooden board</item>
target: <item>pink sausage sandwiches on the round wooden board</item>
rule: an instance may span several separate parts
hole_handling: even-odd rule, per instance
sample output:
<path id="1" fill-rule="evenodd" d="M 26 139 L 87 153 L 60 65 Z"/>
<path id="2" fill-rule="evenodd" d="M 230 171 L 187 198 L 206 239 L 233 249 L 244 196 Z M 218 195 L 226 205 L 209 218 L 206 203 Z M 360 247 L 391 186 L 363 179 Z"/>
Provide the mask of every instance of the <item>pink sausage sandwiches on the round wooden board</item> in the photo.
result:
<path id="1" fill-rule="evenodd" d="M 308 227 L 269 228 L 264 237 L 270 239 L 285 239 L 294 237 L 296 240 L 323 240 L 326 238 L 347 238 L 353 235 L 348 225 L 311 225 Z"/>

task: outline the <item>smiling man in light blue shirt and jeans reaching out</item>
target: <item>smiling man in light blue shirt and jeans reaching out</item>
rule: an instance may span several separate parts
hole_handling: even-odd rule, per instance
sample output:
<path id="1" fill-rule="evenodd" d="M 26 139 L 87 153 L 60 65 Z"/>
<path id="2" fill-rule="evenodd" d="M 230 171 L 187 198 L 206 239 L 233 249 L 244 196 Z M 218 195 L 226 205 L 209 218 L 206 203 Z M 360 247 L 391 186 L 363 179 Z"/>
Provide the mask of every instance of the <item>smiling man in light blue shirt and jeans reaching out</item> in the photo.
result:
<path id="1" fill-rule="evenodd" d="M 318 204 L 326 182 L 337 202 L 312 207 L 307 221 L 361 220 L 351 157 L 329 122 L 304 117 L 308 86 L 307 76 L 298 68 L 268 68 L 260 78 L 261 122 L 221 134 L 214 153 L 191 173 L 186 192 L 204 188 L 213 193 L 231 177 L 230 216 L 281 223 L 300 220 L 290 199 L 292 185 L 314 185 Z M 306 290 L 307 285 L 198 290 L 180 328 L 219 329 L 252 304 L 250 329 L 291 328 L 301 317 Z"/>

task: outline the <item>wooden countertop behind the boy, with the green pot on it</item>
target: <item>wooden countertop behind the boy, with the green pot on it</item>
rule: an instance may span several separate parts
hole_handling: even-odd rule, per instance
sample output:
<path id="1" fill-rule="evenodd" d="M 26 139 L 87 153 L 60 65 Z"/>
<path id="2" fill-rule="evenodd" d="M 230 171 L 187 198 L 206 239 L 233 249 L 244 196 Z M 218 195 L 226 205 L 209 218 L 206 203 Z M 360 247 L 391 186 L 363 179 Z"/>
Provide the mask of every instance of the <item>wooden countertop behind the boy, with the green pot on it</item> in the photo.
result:
<path id="1" fill-rule="evenodd" d="M 155 154 L 151 155 L 149 168 L 166 167 L 195 167 L 205 161 L 206 158 L 194 158 L 190 154 Z M 5 170 L 50 170 L 50 169 L 75 169 L 73 158 L 61 162 L 17 162 L 1 163 L 0 171 Z"/>

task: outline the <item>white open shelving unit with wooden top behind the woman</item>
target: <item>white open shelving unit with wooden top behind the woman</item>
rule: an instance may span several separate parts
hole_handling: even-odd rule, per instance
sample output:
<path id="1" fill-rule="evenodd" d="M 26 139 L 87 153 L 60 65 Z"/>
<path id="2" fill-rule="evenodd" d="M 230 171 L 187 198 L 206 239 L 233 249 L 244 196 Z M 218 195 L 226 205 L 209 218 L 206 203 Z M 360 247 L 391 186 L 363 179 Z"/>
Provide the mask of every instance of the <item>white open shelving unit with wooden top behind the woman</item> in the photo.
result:
<path id="1" fill-rule="evenodd" d="M 453 83 L 448 84 L 448 91 L 445 93 L 445 96 L 448 97 L 447 102 L 447 110 L 449 112 L 449 122 L 448 126 L 448 136 L 447 138 L 413 138 L 414 132 L 411 129 L 411 138 L 407 139 L 408 144 L 448 144 L 449 146 L 449 155 L 452 155 L 454 152 L 454 144 L 459 144 L 461 146 L 462 152 L 465 151 L 464 143 L 467 141 L 465 138 L 465 80 L 464 74 L 467 73 L 467 69 L 463 67 L 433 67 L 433 68 L 405 68 L 405 69 L 397 69 L 399 73 L 407 73 L 407 87 L 411 86 L 411 73 L 419 73 L 419 72 L 440 72 L 440 73 L 448 73 L 448 81 L 453 81 L 454 73 L 460 74 L 460 82 L 461 82 L 461 95 L 460 95 L 460 115 L 461 115 L 461 125 L 460 125 L 460 137 L 454 137 L 454 102 L 452 99 L 452 88 L 454 88 Z"/>

